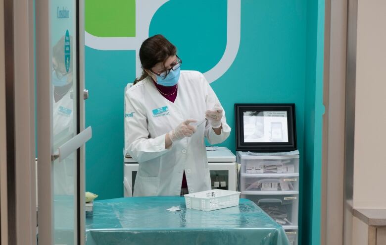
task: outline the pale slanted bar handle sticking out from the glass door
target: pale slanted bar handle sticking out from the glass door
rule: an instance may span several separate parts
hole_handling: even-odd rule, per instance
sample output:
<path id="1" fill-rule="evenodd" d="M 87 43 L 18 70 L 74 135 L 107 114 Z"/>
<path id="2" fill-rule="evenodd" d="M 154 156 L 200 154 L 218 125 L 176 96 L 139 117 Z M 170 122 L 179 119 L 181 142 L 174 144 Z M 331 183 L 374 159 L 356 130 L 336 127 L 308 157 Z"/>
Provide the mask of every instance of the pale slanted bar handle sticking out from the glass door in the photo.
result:
<path id="1" fill-rule="evenodd" d="M 91 126 L 89 126 L 82 132 L 78 133 L 75 137 L 73 137 L 66 143 L 59 146 L 55 151 L 55 153 L 51 155 L 51 160 L 54 161 L 59 158 L 59 162 L 61 162 L 66 157 L 68 157 L 72 152 L 77 150 L 79 147 L 85 144 L 89 139 L 91 139 L 92 134 L 93 134 L 93 131 L 91 129 Z"/>

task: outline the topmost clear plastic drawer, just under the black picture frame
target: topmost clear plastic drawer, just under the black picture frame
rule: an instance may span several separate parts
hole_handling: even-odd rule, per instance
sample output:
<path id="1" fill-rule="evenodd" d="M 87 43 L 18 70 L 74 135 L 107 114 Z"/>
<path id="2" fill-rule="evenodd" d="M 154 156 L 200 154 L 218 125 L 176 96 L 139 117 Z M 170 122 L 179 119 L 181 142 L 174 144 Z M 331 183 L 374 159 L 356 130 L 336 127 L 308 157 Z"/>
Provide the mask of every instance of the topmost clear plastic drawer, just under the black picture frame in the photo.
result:
<path id="1" fill-rule="evenodd" d="M 241 174 L 296 174 L 299 173 L 299 155 L 255 156 L 238 152 Z"/>

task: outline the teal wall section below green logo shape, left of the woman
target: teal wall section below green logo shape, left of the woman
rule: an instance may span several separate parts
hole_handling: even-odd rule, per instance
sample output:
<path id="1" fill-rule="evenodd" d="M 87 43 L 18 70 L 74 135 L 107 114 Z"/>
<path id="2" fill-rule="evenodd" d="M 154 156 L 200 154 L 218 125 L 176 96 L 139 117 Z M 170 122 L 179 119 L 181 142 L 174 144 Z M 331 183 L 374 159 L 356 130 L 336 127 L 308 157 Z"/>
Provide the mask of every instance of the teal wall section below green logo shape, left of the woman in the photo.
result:
<path id="1" fill-rule="evenodd" d="M 123 96 L 135 76 L 134 51 L 99 51 L 86 47 L 86 190 L 99 199 L 123 196 Z"/>

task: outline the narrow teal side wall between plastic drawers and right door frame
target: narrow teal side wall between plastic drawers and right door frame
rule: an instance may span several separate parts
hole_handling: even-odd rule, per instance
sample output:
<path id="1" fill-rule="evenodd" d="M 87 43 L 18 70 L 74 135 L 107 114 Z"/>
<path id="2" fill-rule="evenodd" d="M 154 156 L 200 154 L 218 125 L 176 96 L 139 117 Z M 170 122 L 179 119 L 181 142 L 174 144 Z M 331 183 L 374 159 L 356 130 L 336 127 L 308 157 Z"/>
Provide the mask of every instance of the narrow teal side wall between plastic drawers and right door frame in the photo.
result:
<path id="1" fill-rule="evenodd" d="M 307 1 L 307 53 L 305 77 L 303 244 L 320 244 L 324 1 Z"/>

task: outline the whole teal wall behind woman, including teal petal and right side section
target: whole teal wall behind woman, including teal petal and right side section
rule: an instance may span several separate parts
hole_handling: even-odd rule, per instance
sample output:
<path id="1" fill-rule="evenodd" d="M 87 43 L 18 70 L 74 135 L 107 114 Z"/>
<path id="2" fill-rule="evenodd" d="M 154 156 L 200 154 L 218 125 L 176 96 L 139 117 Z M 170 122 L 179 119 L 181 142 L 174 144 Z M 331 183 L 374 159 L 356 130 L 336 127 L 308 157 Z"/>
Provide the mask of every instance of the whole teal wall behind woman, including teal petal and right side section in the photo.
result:
<path id="1" fill-rule="evenodd" d="M 90 14 L 98 6 L 88 2 Z M 206 72 L 225 50 L 226 13 L 226 0 L 170 0 L 153 16 L 149 35 L 162 33 L 170 39 L 178 48 L 183 69 Z M 178 20 L 173 25 L 170 16 Z M 113 14 L 110 17 L 114 19 Z M 304 245 L 317 245 L 320 240 L 323 22 L 322 0 L 241 0 L 237 57 L 211 83 L 232 128 L 235 103 L 295 103 Z M 123 195 L 123 89 L 134 78 L 134 51 L 86 47 L 86 88 L 90 91 L 86 126 L 93 127 L 93 138 L 86 145 L 86 189 L 97 193 L 98 199 Z M 235 151 L 235 130 L 221 145 Z"/>

